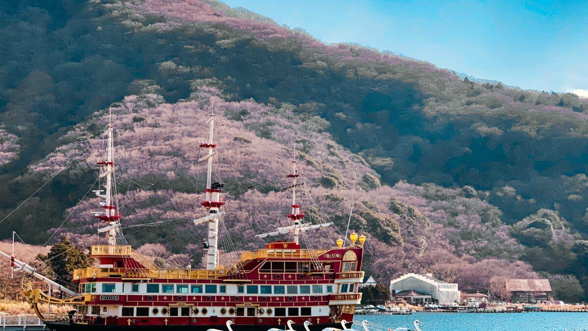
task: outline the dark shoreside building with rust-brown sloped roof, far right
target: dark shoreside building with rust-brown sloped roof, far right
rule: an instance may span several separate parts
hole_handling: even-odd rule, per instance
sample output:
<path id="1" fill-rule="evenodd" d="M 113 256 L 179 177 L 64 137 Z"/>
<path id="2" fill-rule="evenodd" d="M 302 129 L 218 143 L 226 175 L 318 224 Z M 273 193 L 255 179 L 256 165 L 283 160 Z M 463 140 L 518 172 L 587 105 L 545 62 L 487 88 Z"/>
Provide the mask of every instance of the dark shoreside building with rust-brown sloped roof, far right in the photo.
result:
<path id="1" fill-rule="evenodd" d="M 506 279 L 505 287 L 513 303 L 538 303 L 550 300 L 552 296 L 549 279 Z"/>

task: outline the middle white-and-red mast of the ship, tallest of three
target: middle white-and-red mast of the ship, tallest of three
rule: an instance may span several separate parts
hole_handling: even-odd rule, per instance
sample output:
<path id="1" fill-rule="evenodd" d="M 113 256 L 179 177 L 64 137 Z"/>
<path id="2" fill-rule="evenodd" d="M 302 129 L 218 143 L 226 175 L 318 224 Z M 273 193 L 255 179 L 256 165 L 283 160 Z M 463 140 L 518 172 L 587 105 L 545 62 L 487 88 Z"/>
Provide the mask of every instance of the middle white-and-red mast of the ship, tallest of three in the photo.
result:
<path id="1" fill-rule="evenodd" d="M 219 213 L 223 203 L 220 201 L 220 189 L 222 184 L 212 183 L 212 157 L 216 154 L 216 144 L 214 143 L 215 134 L 215 114 L 214 101 L 212 102 L 211 117 L 208 126 L 208 143 L 201 143 L 201 148 L 207 148 L 208 154 L 200 160 L 206 160 L 208 163 L 208 170 L 206 171 L 206 200 L 202 201 L 202 206 L 209 210 L 209 217 L 205 217 L 208 221 L 208 234 L 206 236 L 206 269 L 215 270 L 218 265 L 218 230 L 219 219 L 222 213 Z"/>

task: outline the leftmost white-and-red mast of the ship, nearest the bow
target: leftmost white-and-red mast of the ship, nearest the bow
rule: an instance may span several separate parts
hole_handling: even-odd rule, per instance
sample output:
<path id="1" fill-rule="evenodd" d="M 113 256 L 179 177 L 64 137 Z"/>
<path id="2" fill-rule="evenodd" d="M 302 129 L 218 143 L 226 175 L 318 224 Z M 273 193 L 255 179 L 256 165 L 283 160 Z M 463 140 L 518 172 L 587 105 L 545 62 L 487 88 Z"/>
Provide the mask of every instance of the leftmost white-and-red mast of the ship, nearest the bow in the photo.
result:
<path id="1" fill-rule="evenodd" d="M 103 221 L 106 224 L 105 227 L 98 230 L 99 233 L 106 233 L 106 239 L 109 245 L 116 245 L 116 230 L 121 225 L 119 219 L 121 214 L 116 210 L 115 203 L 113 202 L 113 180 L 112 174 L 114 173 L 114 146 L 113 146 L 113 130 L 112 130 L 112 109 L 109 109 L 110 114 L 108 118 L 108 127 L 106 127 L 106 160 L 100 160 L 96 162 L 100 166 L 99 178 L 105 178 L 103 184 L 104 190 L 93 191 L 96 196 L 103 198 L 103 201 L 99 202 L 99 206 L 102 207 L 103 211 L 93 211 L 94 216 Z M 104 194 L 102 194 L 104 193 Z"/>

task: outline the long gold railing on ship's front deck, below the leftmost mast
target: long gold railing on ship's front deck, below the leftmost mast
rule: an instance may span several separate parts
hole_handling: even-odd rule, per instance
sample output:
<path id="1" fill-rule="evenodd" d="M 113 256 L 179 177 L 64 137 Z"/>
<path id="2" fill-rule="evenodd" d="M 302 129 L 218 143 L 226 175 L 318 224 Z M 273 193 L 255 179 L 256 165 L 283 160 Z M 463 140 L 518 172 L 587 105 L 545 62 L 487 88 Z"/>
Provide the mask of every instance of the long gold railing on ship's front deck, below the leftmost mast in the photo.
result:
<path id="1" fill-rule="evenodd" d="M 138 272 L 140 270 L 140 272 Z M 74 279 L 83 278 L 145 278 L 145 279 L 217 279 L 226 276 L 227 270 L 206 269 L 127 269 L 127 268 L 85 268 L 74 270 Z"/>

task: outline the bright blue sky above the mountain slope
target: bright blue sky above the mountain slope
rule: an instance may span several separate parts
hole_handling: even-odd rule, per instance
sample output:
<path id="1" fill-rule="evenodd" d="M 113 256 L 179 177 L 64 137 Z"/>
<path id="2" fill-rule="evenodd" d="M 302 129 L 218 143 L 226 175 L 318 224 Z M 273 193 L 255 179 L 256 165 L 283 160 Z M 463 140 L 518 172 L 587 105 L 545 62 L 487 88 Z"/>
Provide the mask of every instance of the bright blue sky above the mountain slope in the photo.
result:
<path id="1" fill-rule="evenodd" d="M 588 0 L 222 0 L 300 27 L 477 78 L 588 97 Z"/>

